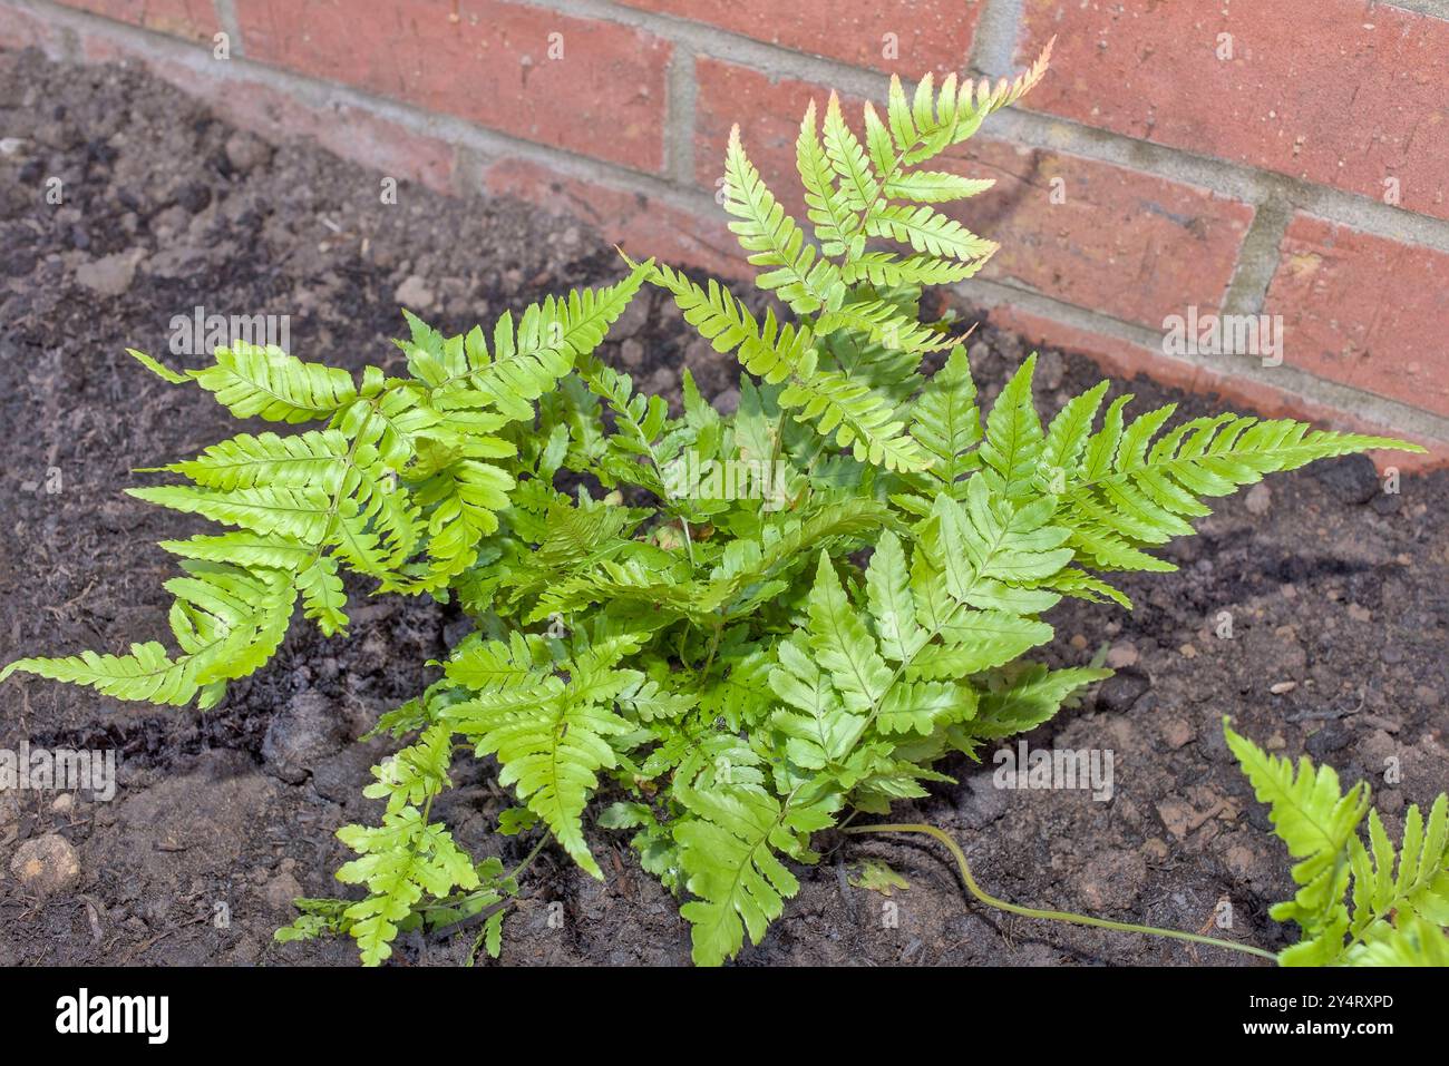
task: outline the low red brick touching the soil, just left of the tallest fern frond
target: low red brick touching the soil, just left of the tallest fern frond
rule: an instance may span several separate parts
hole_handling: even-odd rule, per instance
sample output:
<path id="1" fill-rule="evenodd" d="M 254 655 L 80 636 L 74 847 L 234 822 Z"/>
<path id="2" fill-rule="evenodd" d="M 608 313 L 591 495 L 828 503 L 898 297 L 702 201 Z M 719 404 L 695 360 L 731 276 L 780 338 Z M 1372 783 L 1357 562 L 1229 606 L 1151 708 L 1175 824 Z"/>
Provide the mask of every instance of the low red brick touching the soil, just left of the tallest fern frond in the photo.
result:
<path id="1" fill-rule="evenodd" d="M 514 196 L 582 219 L 633 259 L 652 256 L 671 266 L 697 266 L 723 280 L 752 269 L 738 253 L 739 245 L 726 229 L 723 213 L 701 219 L 643 193 L 581 181 L 522 159 L 493 164 L 483 182 L 496 196 Z"/>

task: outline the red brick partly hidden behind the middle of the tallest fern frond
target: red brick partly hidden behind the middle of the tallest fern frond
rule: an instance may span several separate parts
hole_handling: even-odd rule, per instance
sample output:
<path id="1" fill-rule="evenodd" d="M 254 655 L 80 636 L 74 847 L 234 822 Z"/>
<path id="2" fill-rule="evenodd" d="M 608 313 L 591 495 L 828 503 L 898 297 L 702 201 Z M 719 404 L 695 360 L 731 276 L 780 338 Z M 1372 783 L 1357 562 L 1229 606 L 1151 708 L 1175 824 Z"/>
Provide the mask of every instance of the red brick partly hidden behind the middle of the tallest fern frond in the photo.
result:
<path id="1" fill-rule="evenodd" d="M 800 81 L 772 83 L 719 59 L 698 64 L 696 159 L 713 188 L 736 117 L 745 148 L 777 196 L 803 217 L 794 143 L 800 116 L 827 91 Z M 859 104 L 846 103 L 859 132 Z M 982 277 L 1056 300 L 1161 327 L 1188 304 L 1216 310 L 1232 280 L 1252 209 L 1208 190 L 1139 171 L 1004 140 L 974 138 L 939 169 L 995 178 L 987 193 L 946 207 L 974 232 L 1001 245 Z M 1061 184 L 1056 184 L 1061 178 Z M 1053 188 L 1065 196 L 1052 203 Z"/>

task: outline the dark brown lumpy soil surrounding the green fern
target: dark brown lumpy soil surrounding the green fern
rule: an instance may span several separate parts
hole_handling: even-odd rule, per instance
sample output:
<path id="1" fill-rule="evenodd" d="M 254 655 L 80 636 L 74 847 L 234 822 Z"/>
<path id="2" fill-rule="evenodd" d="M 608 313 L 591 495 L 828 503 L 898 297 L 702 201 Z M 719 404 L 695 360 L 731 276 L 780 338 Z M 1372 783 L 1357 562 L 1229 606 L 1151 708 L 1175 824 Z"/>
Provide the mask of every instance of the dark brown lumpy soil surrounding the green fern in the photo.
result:
<path id="1" fill-rule="evenodd" d="M 172 316 L 197 304 L 290 314 L 294 352 L 355 369 L 398 361 L 388 339 L 401 330 L 404 298 L 464 329 L 619 272 L 613 251 L 571 219 L 407 185 L 397 206 L 381 204 L 377 175 L 309 143 L 274 151 L 117 67 L 0 54 L 0 130 L 14 139 L 0 152 L 0 662 L 122 650 L 165 633 L 171 561 L 155 540 L 174 536 L 178 520 L 122 488 L 145 477 L 133 468 L 236 432 L 207 395 L 174 390 L 125 356 L 126 346 L 164 353 Z M 45 200 L 51 177 L 64 182 L 61 206 Z M 977 337 L 972 366 L 991 393 L 1023 348 L 990 326 Z M 630 310 L 606 356 L 667 394 L 681 365 L 710 395 L 735 384 L 733 364 L 691 343 L 658 300 Z M 1043 352 L 1039 379 L 1055 408 L 1095 374 L 1084 359 Z M 1133 388 L 1142 403 L 1213 407 L 1143 379 Z M 59 491 L 48 491 L 57 474 Z M 1437 474 L 1388 494 L 1366 461 L 1345 459 L 1224 503 L 1172 549 L 1179 572 L 1123 582 L 1132 614 L 1068 604 L 1051 618 L 1055 662 L 1085 662 L 1111 645 L 1113 660 L 1130 663 L 1030 737 L 1111 749 L 1111 801 L 1003 791 L 990 763 L 961 763 L 959 786 L 901 818 L 955 834 L 981 882 L 1007 899 L 1197 930 L 1227 898 L 1227 936 L 1281 946 L 1266 907 L 1290 892 L 1285 856 L 1219 720 L 1232 714 L 1269 747 L 1369 776 L 1395 836 L 1407 802 L 1449 784 L 1446 487 Z M 1232 639 L 1216 634 L 1223 613 Z M 271 933 L 290 920 L 293 895 L 336 894 L 332 872 L 345 855 L 333 830 L 377 817 L 359 789 L 381 749 L 351 739 L 426 684 L 425 662 L 467 630 L 448 608 L 391 597 L 354 618 L 352 636 L 338 640 L 298 620 L 275 660 L 206 715 L 25 676 L 0 688 L 0 747 L 122 752 L 113 802 L 77 797 L 57 811 L 54 794 L 0 795 L 0 965 L 352 962 L 348 943 L 275 946 Z M 1295 688 L 1272 694 L 1279 682 Z M 1382 781 L 1390 759 L 1398 784 Z M 477 852 L 497 847 L 488 830 L 504 797 L 485 768 L 456 776 L 438 813 Z M 10 876 L 10 860 L 46 833 L 74 843 L 81 875 L 39 899 Z M 675 902 L 611 834 L 591 831 L 591 843 L 609 881 L 545 855 L 509 920 L 504 962 L 685 962 Z M 514 842 L 504 847 L 516 857 Z M 885 901 L 852 886 L 867 857 L 888 860 L 910 888 Z M 964 898 L 942 850 L 916 839 L 851 837 L 801 876 L 787 917 L 742 963 L 1245 960 L 982 910 Z M 561 928 L 548 921 L 552 901 L 564 904 Z M 897 908 L 894 927 L 885 902 Z M 217 921 L 223 907 L 229 920 Z M 397 962 L 452 965 L 469 941 L 407 937 Z"/>

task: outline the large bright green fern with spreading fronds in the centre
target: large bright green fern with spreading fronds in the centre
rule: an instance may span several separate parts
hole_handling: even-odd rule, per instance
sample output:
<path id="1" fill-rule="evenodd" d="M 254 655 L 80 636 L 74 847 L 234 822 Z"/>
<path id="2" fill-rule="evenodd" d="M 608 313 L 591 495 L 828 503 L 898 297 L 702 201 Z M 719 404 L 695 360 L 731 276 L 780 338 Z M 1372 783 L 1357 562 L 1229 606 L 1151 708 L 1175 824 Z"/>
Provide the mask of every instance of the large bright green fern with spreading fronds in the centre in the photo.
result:
<path id="1" fill-rule="evenodd" d="M 168 584 L 178 652 L 22 659 L 6 675 L 206 708 L 267 660 L 298 600 L 342 631 L 342 568 L 451 598 L 475 631 L 378 724 L 406 742 L 367 789 L 385 800 L 381 824 L 339 831 L 358 857 L 338 876 L 364 898 L 298 901 L 278 937 L 346 933 L 377 963 L 401 930 L 483 923 L 497 953 L 540 847 L 601 878 L 597 842 L 622 833 L 680 897 L 696 962 L 758 943 L 822 833 L 897 828 L 845 823 L 924 797 L 951 781 L 945 756 L 978 759 L 1107 676 L 1027 658 L 1062 597 L 1130 607 L 1113 575 L 1174 569 L 1152 550 L 1190 534 L 1207 498 L 1313 459 L 1413 450 L 1232 414 L 1168 429 L 1171 406 L 1103 410 L 1107 382 L 1043 424 L 1035 358 L 982 417 L 959 337 L 920 303 L 995 251 L 939 209 L 991 182 L 929 164 L 1027 93 L 1048 54 L 994 85 L 926 75 L 907 93 L 895 78 L 884 116 L 867 104 L 856 129 L 835 96 L 823 116 L 811 104 L 796 143 L 806 224 L 736 129 L 724 206 L 778 301 L 762 311 L 626 256 L 613 287 L 503 316 L 491 348 L 481 329 L 443 336 L 409 316 L 406 377 L 358 382 L 251 348 L 177 374 L 133 353 L 239 417 L 322 429 L 243 433 L 161 468 L 190 485 L 132 490 L 233 527 L 164 543 L 185 575 Z M 671 414 L 600 359 L 645 284 L 738 359 L 736 411 L 685 374 Z M 498 833 L 535 842 L 507 873 L 430 817 L 469 750 L 517 798 Z M 993 905 L 1139 928 L 1003 904 L 962 872 Z"/>

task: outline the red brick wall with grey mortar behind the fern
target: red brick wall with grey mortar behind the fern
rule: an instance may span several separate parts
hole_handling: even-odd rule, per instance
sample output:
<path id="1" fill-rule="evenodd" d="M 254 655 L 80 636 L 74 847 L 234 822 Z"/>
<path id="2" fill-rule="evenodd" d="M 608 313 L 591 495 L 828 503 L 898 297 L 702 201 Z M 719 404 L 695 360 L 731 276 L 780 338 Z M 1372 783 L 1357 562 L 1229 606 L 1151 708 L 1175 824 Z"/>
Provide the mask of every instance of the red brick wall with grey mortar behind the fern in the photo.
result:
<path id="1" fill-rule="evenodd" d="M 1053 35 L 949 161 L 997 178 L 959 217 L 1003 243 L 961 295 L 1116 374 L 1449 459 L 1449 0 L 0 0 L 0 46 L 145 62 L 262 133 L 730 277 L 732 122 L 796 204 L 811 97 L 1007 74 Z M 1165 355 L 1190 307 L 1282 316 L 1282 365 Z"/>

